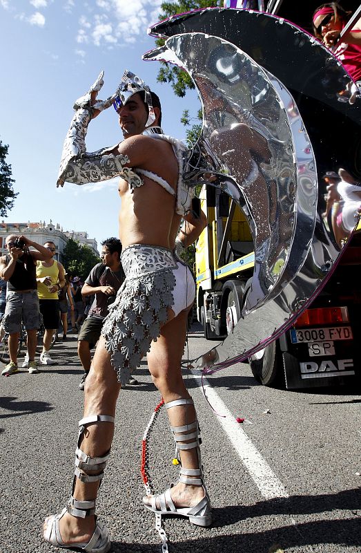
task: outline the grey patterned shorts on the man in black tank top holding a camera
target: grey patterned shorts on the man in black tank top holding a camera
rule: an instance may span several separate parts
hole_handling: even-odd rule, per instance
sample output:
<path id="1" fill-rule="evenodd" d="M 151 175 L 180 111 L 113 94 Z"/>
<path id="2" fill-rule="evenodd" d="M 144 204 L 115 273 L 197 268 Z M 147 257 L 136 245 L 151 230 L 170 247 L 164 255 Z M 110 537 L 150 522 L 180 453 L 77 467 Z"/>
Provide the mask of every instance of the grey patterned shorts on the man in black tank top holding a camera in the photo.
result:
<path id="1" fill-rule="evenodd" d="M 5 332 L 15 334 L 21 330 L 21 321 L 26 330 L 40 327 L 39 298 L 37 290 L 12 292 L 8 290 L 6 308 L 1 324 Z"/>

